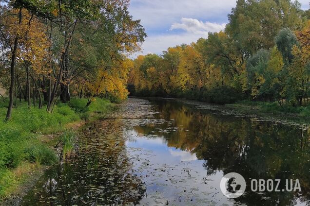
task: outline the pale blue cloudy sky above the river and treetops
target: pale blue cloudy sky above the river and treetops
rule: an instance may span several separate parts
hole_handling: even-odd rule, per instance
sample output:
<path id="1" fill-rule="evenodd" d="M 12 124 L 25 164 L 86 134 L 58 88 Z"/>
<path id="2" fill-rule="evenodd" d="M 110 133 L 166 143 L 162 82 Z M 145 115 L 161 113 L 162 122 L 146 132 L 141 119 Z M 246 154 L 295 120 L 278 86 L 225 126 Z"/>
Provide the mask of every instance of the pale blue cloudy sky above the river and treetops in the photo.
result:
<path id="1" fill-rule="evenodd" d="M 299 0 L 309 9 L 309 0 Z M 148 37 L 138 54 L 161 54 L 168 47 L 190 44 L 208 32 L 218 32 L 228 23 L 235 0 L 131 0 L 129 12 Z"/>

